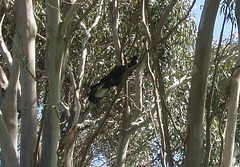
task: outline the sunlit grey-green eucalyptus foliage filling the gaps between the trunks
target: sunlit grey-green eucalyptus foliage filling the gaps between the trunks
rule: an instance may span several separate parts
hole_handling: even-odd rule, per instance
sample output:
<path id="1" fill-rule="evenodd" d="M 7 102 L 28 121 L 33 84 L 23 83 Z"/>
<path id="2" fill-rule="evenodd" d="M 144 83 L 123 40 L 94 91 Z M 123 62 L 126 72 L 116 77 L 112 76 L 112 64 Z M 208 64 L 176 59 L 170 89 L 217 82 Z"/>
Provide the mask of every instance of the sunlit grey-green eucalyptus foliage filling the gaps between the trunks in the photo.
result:
<path id="1" fill-rule="evenodd" d="M 92 1 L 86 1 L 81 3 L 80 9 L 74 16 L 73 20 L 78 20 L 86 9 L 91 5 Z M 154 32 L 157 27 L 159 18 L 164 13 L 166 7 L 170 3 L 169 0 L 149 0 L 147 6 L 147 14 L 149 18 L 150 32 Z M 102 6 L 101 6 L 102 5 Z M 140 1 L 124 1 L 119 2 L 119 38 L 122 46 L 123 57 L 129 59 L 133 55 L 143 56 L 146 51 L 146 36 L 142 25 L 142 4 Z M 228 18 L 235 23 L 233 16 L 233 5 L 225 6 L 226 2 L 223 2 L 222 11 L 229 9 Z M 179 1 L 171 11 L 170 16 L 167 18 L 166 24 L 163 27 L 163 34 L 167 34 L 171 27 L 176 25 L 187 13 L 187 9 L 191 6 L 190 0 Z M 61 5 L 61 13 L 64 5 Z M 12 15 L 12 6 L 10 8 L 10 14 Z M 47 82 L 45 79 L 45 55 L 46 55 L 46 13 L 45 4 L 43 1 L 36 1 L 35 4 L 35 18 L 37 22 L 38 32 L 36 37 L 36 80 L 37 80 L 37 96 L 38 96 L 38 112 L 39 112 L 39 127 L 41 127 L 42 112 L 44 112 L 45 93 L 47 91 Z M 231 9 L 231 10 L 230 10 Z M 98 12 L 100 10 L 100 15 Z M 82 82 L 80 87 L 80 104 L 82 116 L 89 107 L 87 99 L 87 93 L 89 92 L 90 85 L 97 83 L 100 78 L 109 73 L 111 69 L 118 66 L 118 57 L 115 55 L 115 49 L 113 46 L 113 34 L 111 27 L 110 5 L 108 1 L 104 1 L 102 4 L 98 3 L 96 8 L 90 12 L 88 17 L 82 21 L 85 24 L 80 26 L 77 31 L 74 32 L 72 39 L 68 44 L 69 57 L 67 60 L 67 66 L 73 74 L 76 83 Z M 89 34 L 86 34 L 86 29 L 90 27 L 97 16 L 101 16 L 98 24 L 94 27 Z M 63 18 L 63 14 L 61 15 Z M 10 31 L 7 31 L 10 29 Z M 12 34 L 14 31 L 14 25 L 11 25 L 8 20 L 4 21 L 3 38 L 7 44 L 7 47 L 11 51 Z M 159 66 L 163 75 L 163 85 L 166 91 L 169 88 L 178 83 L 183 77 L 190 77 L 192 73 L 192 63 L 195 50 L 196 41 L 196 25 L 194 22 L 194 15 L 190 16 L 181 22 L 179 26 L 171 33 L 171 35 L 161 41 L 156 46 L 156 52 L 158 53 Z M 81 65 L 81 54 L 85 48 L 83 48 L 83 41 L 89 35 L 86 49 L 87 58 L 85 73 L 83 78 L 79 75 L 79 66 Z M 236 55 L 230 54 L 231 50 L 236 47 L 236 41 L 232 41 L 231 38 L 225 39 L 220 46 L 220 61 L 218 62 L 218 71 L 214 83 L 214 94 L 212 97 L 211 112 L 215 105 L 218 106 L 213 123 L 211 125 L 211 138 L 212 138 L 212 152 L 211 152 L 211 166 L 217 166 L 220 162 L 222 152 L 222 133 L 226 123 L 226 106 L 229 98 L 228 89 L 224 94 L 220 94 L 221 87 L 224 85 L 225 80 L 232 74 L 234 62 L 236 62 Z M 213 80 L 213 73 L 216 68 L 214 61 L 216 58 L 217 44 L 213 44 L 211 69 L 209 74 L 209 83 Z M 236 53 L 235 51 L 231 53 Z M 5 67 L 6 63 L 1 57 L 0 65 Z M 145 61 L 145 60 L 144 60 Z M 154 66 L 153 58 L 150 57 L 150 66 Z M 144 62 L 145 63 L 145 62 Z M 4 69 L 5 71 L 6 68 Z M 153 69 L 155 71 L 156 69 Z M 70 71 L 65 70 L 65 77 L 62 78 L 62 90 L 61 90 L 61 106 L 60 106 L 60 141 L 58 149 L 59 166 L 64 166 L 64 145 L 67 142 L 67 135 L 71 127 L 71 123 L 74 117 L 73 103 L 76 96 L 73 83 L 71 81 Z M 135 73 L 134 73 L 135 74 Z M 135 104 L 135 75 L 128 79 L 129 84 L 129 97 L 131 110 L 136 110 Z M 83 80 L 82 80 L 83 79 Z M 81 81 L 82 80 L 82 81 Z M 211 88 L 211 84 L 208 86 L 208 93 Z M 152 111 L 155 111 L 154 104 L 154 86 L 150 76 L 150 72 L 145 69 L 143 74 L 142 85 L 142 98 L 143 109 L 140 113 L 137 121 L 145 120 L 151 117 L 150 123 L 139 128 L 135 133 L 131 135 L 131 140 L 128 146 L 126 166 L 161 166 L 161 133 L 160 125 L 157 122 L 156 114 L 152 115 Z M 189 80 L 182 85 L 176 87 L 166 97 L 167 107 L 169 109 L 169 117 L 167 124 L 170 136 L 170 146 L 172 148 L 172 157 L 174 160 L 174 166 L 182 166 L 184 163 L 186 133 L 187 133 L 187 110 L 189 103 Z M 122 91 L 119 98 L 116 100 L 109 117 L 104 124 L 103 130 L 100 131 L 94 142 L 91 144 L 90 150 L 87 155 L 84 154 L 84 148 L 88 144 L 89 137 L 99 126 L 100 120 L 104 113 L 109 109 L 110 103 L 117 92 L 117 88 L 113 88 L 110 93 L 105 97 L 101 104 L 96 106 L 85 118 L 83 122 L 80 122 L 76 134 L 74 135 L 74 152 L 73 162 L 75 166 L 80 164 L 83 157 L 86 157 L 84 166 L 113 166 L 116 158 L 116 152 L 118 148 L 118 140 L 121 132 L 122 113 L 124 110 L 124 98 L 125 94 Z M 221 96 L 220 102 L 217 101 Z M 81 119 L 81 118 L 80 118 Z M 20 118 L 21 120 L 21 118 Z M 207 118 L 204 121 L 206 124 Z M 239 121 L 238 121 L 239 122 Z M 19 121 L 19 124 L 21 121 Z M 206 125 L 205 125 L 206 126 Z M 40 130 L 41 128 L 39 128 Z M 240 131 L 240 125 L 237 124 L 237 132 Z M 205 132 L 205 131 L 204 131 Z M 21 136 L 19 136 L 19 140 Z M 236 136 L 236 147 L 239 148 L 240 138 Z M 21 149 L 21 148 L 20 148 Z M 237 161 L 239 164 L 240 161 Z"/>

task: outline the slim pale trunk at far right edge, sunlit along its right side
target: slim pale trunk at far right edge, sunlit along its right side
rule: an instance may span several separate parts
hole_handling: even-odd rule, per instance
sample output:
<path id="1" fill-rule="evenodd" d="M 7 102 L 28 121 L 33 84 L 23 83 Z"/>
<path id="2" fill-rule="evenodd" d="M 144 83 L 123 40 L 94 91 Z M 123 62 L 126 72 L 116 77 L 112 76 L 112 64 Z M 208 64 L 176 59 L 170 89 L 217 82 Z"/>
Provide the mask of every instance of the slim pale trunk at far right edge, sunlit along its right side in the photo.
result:
<path id="1" fill-rule="evenodd" d="M 238 49 L 240 51 L 240 2 L 236 1 L 236 18 L 238 23 Z M 238 53 L 240 57 L 240 52 Z M 239 64 L 236 65 L 238 67 Z M 240 72 L 239 69 L 235 71 L 231 80 L 231 95 L 228 106 L 227 125 L 225 133 L 225 144 L 222 154 L 221 167 L 233 166 L 233 152 L 236 135 L 237 115 L 238 115 L 238 103 L 240 93 Z"/>

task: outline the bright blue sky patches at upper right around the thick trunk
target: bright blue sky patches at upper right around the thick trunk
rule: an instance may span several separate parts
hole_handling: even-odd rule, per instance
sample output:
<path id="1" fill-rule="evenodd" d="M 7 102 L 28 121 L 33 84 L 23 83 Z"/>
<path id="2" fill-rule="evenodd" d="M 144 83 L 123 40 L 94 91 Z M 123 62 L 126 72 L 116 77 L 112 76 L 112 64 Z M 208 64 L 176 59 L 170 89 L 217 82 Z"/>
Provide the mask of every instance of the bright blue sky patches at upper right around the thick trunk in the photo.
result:
<path id="1" fill-rule="evenodd" d="M 205 0 L 197 0 L 195 6 L 193 8 L 193 12 L 196 15 L 197 27 L 199 25 L 201 13 L 202 13 L 203 6 L 204 6 L 204 1 Z M 220 10 L 218 10 L 217 19 L 216 19 L 215 28 L 214 28 L 214 33 L 213 33 L 213 38 L 214 39 L 218 39 L 219 36 L 220 36 L 222 22 L 223 22 L 223 14 L 220 14 Z M 229 36 L 230 32 L 231 32 L 231 23 L 228 22 L 226 24 L 226 27 L 225 27 L 224 37 Z M 234 33 L 237 34 L 237 29 L 236 28 L 234 29 Z"/>

